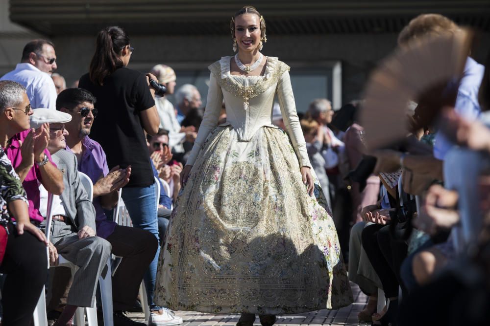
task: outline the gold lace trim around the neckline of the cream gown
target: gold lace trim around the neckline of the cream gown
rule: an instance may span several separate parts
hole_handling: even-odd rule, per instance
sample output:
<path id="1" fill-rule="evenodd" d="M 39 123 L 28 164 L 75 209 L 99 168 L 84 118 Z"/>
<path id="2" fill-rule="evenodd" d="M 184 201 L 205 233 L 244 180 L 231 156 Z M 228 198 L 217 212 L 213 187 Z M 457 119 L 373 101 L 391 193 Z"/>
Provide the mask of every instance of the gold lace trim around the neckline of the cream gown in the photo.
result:
<path id="1" fill-rule="evenodd" d="M 267 63 L 267 65 L 269 65 L 269 62 Z M 241 83 L 237 82 L 232 75 L 228 75 L 226 78 L 221 78 L 220 61 L 217 61 L 214 64 L 210 65 L 209 70 L 216 76 L 216 78 L 218 79 L 218 83 L 223 89 L 234 94 L 235 96 L 243 98 L 244 108 L 246 109 L 248 107 L 248 100 L 262 94 L 272 85 L 277 83 L 282 74 L 285 71 L 290 70 L 290 67 L 289 65 L 286 65 L 281 61 L 277 61 L 270 78 L 261 78 L 253 85 L 249 86 L 244 86 Z"/>

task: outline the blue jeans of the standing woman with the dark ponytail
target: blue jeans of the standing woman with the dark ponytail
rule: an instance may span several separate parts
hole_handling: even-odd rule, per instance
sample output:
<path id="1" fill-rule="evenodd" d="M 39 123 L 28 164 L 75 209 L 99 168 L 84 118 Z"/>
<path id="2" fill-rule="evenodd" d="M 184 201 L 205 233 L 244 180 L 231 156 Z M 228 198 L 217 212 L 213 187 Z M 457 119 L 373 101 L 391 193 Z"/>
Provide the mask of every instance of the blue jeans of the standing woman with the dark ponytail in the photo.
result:
<path id="1" fill-rule="evenodd" d="M 155 183 L 148 187 L 126 187 L 123 189 L 122 197 L 133 226 L 151 232 L 159 240 L 155 187 Z M 160 246 L 158 246 L 155 257 L 143 277 L 147 289 L 148 305 L 150 307 L 154 305 L 153 293 L 155 292 L 159 254 Z"/>

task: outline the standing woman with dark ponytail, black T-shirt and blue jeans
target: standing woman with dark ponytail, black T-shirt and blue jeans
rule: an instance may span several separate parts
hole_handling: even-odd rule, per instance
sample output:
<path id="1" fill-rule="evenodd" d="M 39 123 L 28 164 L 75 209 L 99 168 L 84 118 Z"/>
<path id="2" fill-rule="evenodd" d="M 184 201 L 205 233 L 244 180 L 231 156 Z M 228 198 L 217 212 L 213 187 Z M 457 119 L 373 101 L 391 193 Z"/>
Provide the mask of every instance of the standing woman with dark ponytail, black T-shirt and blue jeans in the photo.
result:
<path id="1" fill-rule="evenodd" d="M 108 166 L 119 165 L 126 170 L 130 167 L 131 176 L 122 193 L 124 203 L 133 225 L 151 232 L 158 239 L 157 185 L 144 132 L 154 135 L 160 125 L 155 91 L 149 87 L 149 79 L 156 78 L 152 74 L 145 75 L 126 68 L 133 50 L 129 37 L 118 26 L 104 28 L 98 33 L 90 71 L 80 78 L 78 86 L 92 92 L 97 104 L 94 110 L 88 103 L 83 106 L 89 108 L 78 109 L 82 114 L 81 132 L 86 136 L 83 144 L 87 147 L 75 150 L 83 156 L 83 152 L 90 148 L 86 142 L 90 133 L 105 151 Z M 96 115 L 97 123 L 92 127 Z M 100 233 L 98 231 L 98 236 L 103 237 Z M 180 317 L 153 303 L 159 251 L 158 247 L 144 277 L 151 311 L 148 325 L 179 325 L 182 323 Z"/>

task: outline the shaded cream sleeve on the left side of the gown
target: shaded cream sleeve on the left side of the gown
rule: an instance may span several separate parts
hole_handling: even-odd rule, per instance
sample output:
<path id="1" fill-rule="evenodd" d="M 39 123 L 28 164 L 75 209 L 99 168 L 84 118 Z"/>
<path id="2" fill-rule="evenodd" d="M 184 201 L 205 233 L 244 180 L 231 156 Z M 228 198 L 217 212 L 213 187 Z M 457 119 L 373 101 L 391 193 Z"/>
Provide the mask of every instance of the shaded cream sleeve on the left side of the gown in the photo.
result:
<path id="1" fill-rule="evenodd" d="M 213 130 L 218 125 L 218 120 L 221 112 L 221 104 L 223 103 L 223 92 L 218 84 L 216 76 L 211 73 L 209 77 L 209 91 L 208 99 L 206 104 L 206 110 L 204 111 L 204 116 L 202 117 L 201 125 L 199 126 L 199 131 L 197 132 L 196 141 L 192 148 L 189 158 L 187 159 L 186 165 L 193 165 L 196 161 L 197 154 L 201 150 L 201 146 L 209 135 L 209 132 Z M 296 116 L 297 119 L 297 116 Z M 299 123 L 298 123 L 299 126 Z M 304 140 L 303 140 L 304 142 Z"/>

